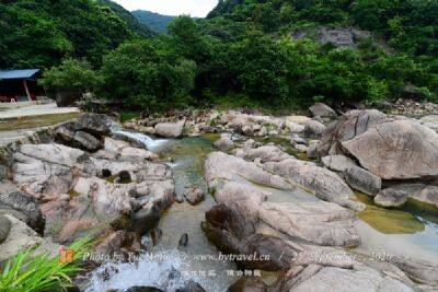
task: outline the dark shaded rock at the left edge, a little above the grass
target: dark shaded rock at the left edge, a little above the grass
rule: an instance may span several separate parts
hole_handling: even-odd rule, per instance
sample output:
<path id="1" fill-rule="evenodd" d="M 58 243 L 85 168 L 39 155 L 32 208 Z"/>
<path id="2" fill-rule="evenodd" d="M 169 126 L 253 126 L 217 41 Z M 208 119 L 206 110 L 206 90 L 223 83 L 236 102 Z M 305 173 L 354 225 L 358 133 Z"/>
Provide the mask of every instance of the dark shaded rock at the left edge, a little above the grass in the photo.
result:
<path id="1" fill-rule="evenodd" d="M 16 211 L 19 219 L 22 219 L 39 234 L 43 234 L 46 220 L 34 197 L 26 196 L 20 191 L 12 191 L 0 199 L 0 212 L 1 210 Z"/>

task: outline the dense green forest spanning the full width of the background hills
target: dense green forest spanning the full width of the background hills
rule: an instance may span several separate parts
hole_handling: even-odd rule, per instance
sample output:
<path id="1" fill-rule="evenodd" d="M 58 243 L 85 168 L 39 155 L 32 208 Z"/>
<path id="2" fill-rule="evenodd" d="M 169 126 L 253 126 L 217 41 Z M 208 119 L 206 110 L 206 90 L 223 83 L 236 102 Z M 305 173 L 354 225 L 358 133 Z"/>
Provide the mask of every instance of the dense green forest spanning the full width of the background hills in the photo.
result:
<path id="1" fill-rule="evenodd" d="M 0 66 L 145 109 L 435 101 L 436 15 L 438 0 L 224 0 L 153 35 L 108 1 L 2 1 Z M 319 36 L 355 30 L 351 46 Z"/>

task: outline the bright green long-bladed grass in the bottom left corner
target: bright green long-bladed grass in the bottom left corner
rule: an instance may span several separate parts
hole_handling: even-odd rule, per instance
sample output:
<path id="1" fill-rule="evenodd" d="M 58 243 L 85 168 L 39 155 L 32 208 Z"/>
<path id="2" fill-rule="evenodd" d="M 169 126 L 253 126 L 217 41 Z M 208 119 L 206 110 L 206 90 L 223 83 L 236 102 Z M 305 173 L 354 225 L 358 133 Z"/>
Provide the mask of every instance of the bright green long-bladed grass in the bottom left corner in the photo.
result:
<path id="1" fill-rule="evenodd" d="M 3 271 L 0 271 L 0 291 L 66 291 L 73 285 L 71 277 L 82 270 L 81 259 L 91 244 L 90 237 L 71 244 L 68 249 L 74 252 L 72 262 L 60 262 L 59 256 L 50 257 L 48 254 L 33 256 L 34 249 L 18 254 L 8 261 Z"/>

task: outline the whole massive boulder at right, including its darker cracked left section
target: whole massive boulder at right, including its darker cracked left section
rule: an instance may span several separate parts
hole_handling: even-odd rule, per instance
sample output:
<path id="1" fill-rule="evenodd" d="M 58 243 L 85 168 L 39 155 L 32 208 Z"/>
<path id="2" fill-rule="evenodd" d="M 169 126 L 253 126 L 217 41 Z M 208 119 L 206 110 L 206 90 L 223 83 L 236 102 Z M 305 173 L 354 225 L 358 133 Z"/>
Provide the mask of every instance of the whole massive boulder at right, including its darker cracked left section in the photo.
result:
<path id="1" fill-rule="evenodd" d="M 320 156 L 346 154 L 382 179 L 438 175 L 438 133 L 399 116 L 351 110 L 331 124 L 319 143 Z"/>

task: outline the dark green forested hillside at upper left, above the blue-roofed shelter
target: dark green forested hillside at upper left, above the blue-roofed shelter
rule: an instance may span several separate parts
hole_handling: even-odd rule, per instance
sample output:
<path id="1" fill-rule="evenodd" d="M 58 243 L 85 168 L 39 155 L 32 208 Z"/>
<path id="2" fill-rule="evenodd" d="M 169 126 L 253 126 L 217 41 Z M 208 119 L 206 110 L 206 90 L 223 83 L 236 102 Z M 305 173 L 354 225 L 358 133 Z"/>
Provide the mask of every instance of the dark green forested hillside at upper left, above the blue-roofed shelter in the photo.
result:
<path id="1" fill-rule="evenodd" d="M 152 33 L 107 0 L 0 2 L 0 68 L 50 67 L 62 58 L 103 55 L 135 34 Z"/>

